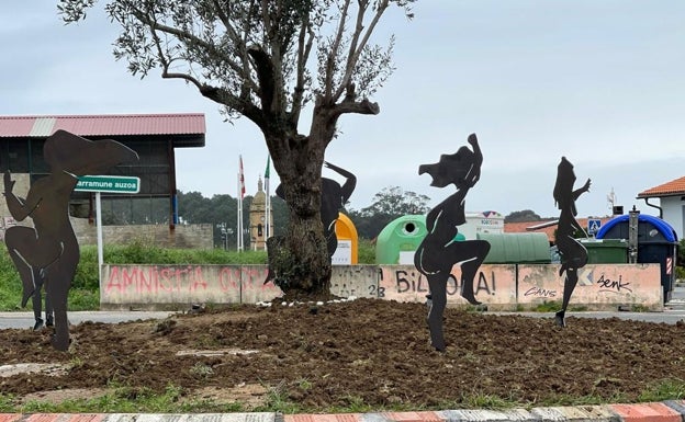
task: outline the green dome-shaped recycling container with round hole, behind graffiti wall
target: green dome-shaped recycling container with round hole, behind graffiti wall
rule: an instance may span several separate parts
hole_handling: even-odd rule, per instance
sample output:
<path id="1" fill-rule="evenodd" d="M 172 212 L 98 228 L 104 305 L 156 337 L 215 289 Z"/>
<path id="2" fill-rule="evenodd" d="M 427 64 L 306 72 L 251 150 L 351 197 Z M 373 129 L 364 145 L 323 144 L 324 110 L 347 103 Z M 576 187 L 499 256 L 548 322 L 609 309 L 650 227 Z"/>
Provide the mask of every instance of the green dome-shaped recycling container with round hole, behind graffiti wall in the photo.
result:
<path id="1" fill-rule="evenodd" d="M 390 221 L 375 241 L 377 264 L 414 264 L 414 253 L 428 230 L 426 216 L 406 215 Z"/>

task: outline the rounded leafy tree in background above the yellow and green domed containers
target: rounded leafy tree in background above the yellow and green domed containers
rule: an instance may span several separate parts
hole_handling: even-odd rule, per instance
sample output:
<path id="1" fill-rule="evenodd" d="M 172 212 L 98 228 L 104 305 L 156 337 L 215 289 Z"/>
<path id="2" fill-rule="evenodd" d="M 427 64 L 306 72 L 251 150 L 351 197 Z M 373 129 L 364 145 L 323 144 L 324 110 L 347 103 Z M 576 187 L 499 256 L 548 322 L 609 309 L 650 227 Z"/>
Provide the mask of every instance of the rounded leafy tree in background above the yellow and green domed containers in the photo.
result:
<path id="1" fill-rule="evenodd" d="M 373 196 L 373 203 L 361 210 L 350 209 L 349 217 L 357 227 L 357 233 L 364 239 L 374 239 L 389 223 L 405 215 L 424 215 L 430 209 L 430 198 L 400 186 L 384 187 Z"/>

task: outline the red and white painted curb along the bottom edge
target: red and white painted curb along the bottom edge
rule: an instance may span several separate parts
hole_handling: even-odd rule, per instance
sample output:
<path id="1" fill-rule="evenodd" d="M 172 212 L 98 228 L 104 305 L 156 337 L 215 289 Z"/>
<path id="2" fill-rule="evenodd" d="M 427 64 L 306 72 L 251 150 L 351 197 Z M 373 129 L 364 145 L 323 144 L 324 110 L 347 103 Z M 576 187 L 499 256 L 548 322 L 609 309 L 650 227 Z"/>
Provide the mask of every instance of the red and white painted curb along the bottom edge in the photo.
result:
<path id="1" fill-rule="evenodd" d="M 685 400 L 507 410 L 334 414 L 0 413 L 0 422 L 685 422 Z"/>

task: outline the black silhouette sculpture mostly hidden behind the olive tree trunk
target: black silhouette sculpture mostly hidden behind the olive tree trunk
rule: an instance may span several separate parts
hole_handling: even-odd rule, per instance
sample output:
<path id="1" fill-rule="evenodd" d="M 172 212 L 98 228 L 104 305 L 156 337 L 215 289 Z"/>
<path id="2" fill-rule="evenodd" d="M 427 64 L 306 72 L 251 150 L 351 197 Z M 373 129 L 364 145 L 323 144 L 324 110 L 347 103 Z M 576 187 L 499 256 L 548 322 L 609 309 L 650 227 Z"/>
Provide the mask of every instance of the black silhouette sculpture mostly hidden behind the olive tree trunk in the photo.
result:
<path id="1" fill-rule="evenodd" d="M 338 237 L 335 232 L 335 225 L 338 220 L 338 214 L 340 213 L 340 209 L 345 207 L 345 204 L 352 195 L 352 192 L 357 186 L 357 178 L 349 171 L 332 164 L 328 161 L 324 161 L 324 167 L 335 171 L 346 179 L 343 186 L 340 186 L 340 184 L 333 179 L 322 178 L 322 198 L 319 209 L 322 224 L 324 225 L 324 236 L 326 237 L 326 246 L 328 249 L 328 259 L 330 259 L 338 248 Z M 285 198 L 285 194 L 283 193 L 283 185 L 279 185 L 276 189 L 276 194 L 281 199 L 288 201 Z M 265 280 L 263 284 L 267 284 L 271 280 L 276 278 L 276 272 L 273 270 L 271 258 L 273 256 L 273 254 L 277 253 L 280 248 L 282 248 L 281 237 L 274 236 L 267 239 L 269 273 L 267 274 L 267 280 Z"/>

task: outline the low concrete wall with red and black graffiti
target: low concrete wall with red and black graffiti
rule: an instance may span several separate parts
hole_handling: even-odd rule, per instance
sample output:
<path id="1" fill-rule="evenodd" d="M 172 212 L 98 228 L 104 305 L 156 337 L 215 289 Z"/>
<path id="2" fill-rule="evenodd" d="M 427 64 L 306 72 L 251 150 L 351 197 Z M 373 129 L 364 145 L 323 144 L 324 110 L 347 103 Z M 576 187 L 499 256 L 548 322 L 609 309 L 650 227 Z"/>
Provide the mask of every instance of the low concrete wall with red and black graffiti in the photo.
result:
<path id="1" fill-rule="evenodd" d="M 266 265 L 104 265 L 103 309 L 184 309 L 191 304 L 256 304 L 281 295 L 263 284 Z M 459 295 L 459 267 L 447 284 L 448 305 L 468 307 Z M 413 265 L 334 266 L 330 290 L 340 297 L 424 303 L 428 283 Z M 474 292 L 490 310 L 530 309 L 560 301 L 558 264 L 482 265 Z M 660 264 L 588 264 L 580 272 L 572 306 L 616 309 L 639 306 L 663 310 Z"/>

